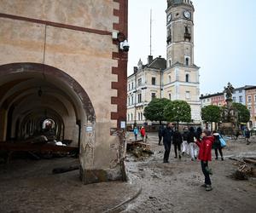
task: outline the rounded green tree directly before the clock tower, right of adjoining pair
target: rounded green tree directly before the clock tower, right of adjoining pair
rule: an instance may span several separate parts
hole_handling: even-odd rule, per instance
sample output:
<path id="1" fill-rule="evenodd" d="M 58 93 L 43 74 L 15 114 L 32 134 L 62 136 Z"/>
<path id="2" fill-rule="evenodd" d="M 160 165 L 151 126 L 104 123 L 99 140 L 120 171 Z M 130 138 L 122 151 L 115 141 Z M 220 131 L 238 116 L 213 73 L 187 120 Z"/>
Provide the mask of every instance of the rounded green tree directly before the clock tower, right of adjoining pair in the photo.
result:
<path id="1" fill-rule="evenodd" d="M 167 121 L 191 122 L 191 108 L 186 101 L 171 101 L 165 107 L 164 116 Z"/>

